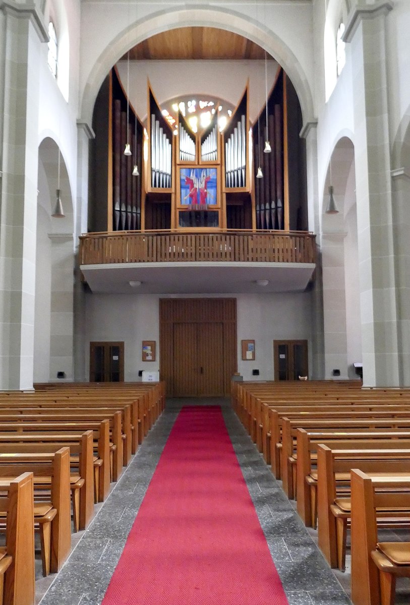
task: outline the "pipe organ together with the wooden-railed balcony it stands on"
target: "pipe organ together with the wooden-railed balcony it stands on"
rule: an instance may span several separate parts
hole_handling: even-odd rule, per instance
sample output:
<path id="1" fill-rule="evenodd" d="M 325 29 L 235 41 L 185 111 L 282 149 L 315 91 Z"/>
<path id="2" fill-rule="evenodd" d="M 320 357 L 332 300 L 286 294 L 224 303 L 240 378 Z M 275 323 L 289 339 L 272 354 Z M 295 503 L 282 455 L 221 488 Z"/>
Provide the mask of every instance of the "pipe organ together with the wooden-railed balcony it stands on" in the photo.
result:
<path id="1" fill-rule="evenodd" d="M 176 108 L 175 117 L 161 108 L 148 83 L 141 121 L 116 68 L 103 83 L 90 149 L 91 229 L 80 237 L 83 280 L 100 293 L 305 290 L 316 243 L 306 231 L 301 112 L 286 74 L 279 68 L 253 122 L 249 85 L 224 128 L 221 106 L 201 129 Z"/>

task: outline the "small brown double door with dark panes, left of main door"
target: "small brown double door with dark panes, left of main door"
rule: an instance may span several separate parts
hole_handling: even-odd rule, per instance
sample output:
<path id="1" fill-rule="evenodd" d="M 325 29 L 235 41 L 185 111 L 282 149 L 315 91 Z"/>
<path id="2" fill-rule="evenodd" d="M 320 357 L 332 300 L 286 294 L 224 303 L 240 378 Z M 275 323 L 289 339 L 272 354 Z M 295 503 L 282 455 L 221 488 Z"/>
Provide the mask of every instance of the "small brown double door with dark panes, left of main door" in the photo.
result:
<path id="1" fill-rule="evenodd" d="M 124 381 L 124 343 L 89 343 L 89 382 Z"/>

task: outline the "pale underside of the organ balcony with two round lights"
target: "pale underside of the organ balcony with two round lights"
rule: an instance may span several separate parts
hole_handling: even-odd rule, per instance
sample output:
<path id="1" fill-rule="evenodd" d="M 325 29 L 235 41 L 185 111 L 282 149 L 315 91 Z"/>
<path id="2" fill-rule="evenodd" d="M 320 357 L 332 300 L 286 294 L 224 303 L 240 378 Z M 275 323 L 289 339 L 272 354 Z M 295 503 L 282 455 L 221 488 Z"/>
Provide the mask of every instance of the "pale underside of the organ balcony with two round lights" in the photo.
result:
<path id="1" fill-rule="evenodd" d="M 83 264 L 94 293 L 227 294 L 303 292 L 314 263 L 168 262 Z M 258 284 L 267 280 L 268 284 Z M 129 282 L 140 281 L 140 286 Z"/>

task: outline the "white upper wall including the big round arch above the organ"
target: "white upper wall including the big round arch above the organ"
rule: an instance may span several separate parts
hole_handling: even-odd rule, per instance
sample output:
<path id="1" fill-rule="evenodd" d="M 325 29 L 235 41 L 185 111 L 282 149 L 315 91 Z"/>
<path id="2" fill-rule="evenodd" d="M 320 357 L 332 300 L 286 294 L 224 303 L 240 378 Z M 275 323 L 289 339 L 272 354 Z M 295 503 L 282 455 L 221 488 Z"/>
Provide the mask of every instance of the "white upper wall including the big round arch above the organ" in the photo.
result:
<path id="1" fill-rule="evenodd" d="M 200 0 L 189 8 L 155 2 L 130 7 L 118 2 L 82 2 L 80 99 L 82 119 L 89 120 L 100 85 L 109 69 L 138 42 L 176 27 L 227 29 L 257 42 L 278 59 L 302 98 L 304 119 L 313 118 L 311 2 L 260 3 Z"/>

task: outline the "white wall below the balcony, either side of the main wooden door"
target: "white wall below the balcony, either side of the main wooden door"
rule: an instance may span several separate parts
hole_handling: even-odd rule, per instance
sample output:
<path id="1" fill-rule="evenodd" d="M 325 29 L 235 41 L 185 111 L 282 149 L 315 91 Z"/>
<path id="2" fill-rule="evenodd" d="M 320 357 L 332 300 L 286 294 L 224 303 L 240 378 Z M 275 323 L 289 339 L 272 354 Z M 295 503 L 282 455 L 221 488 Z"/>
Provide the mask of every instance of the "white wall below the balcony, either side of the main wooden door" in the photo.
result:
<path id="1" fill-rule="evenodd" d="M 190 295 L 190 298 L 194 297 L 195 295 Z M 166 295 L 89 294 L 85 298 L 86 378 L 89 375 L 89 342 L 91 341 L 125 342 L 125 381 L 137 381 L 138 370 L 159 369 L 158 300 L 167 298 Z M 172 298 L 180 297 L 173 296 Z M 310 341 L 309 295 L 308 293 L 241 294 L 236 295 L 235 298 L 237 300 L 238 371 L 247 380 L 252 379 L 252 370 L 258 368 L 259 377 L 257 379 L 272 380 L 273 340 L 307 339 Z M 241 361 L 242 339 L 255 340 L 255 361 Z M 157 342 L 156 362 L 141 361 L 143 340 Z"/>

